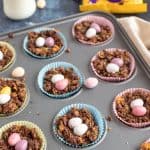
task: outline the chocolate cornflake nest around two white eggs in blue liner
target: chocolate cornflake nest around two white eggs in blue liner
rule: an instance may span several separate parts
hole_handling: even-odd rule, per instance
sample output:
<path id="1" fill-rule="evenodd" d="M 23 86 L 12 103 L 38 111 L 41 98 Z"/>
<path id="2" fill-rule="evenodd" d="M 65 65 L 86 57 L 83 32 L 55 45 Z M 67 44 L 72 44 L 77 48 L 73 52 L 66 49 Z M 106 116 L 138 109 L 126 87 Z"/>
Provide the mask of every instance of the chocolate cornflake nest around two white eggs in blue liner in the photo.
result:
<path id="1" fill-rule="evenodd" d="M 68 121 L 73 117 L 80 117 L 83 123 L 88 126 L 88 130 L 84 135 L 75 135 L 73 129 L 68 126 Z M 56 126 L 58 135 L 63 137 L 68 143 L 76 146 L 82 146 L 96 141 L 100 132 L 92 114 L 85 108 L 78 109 L 73 107 L 66 115 L 57 119 Z"/>

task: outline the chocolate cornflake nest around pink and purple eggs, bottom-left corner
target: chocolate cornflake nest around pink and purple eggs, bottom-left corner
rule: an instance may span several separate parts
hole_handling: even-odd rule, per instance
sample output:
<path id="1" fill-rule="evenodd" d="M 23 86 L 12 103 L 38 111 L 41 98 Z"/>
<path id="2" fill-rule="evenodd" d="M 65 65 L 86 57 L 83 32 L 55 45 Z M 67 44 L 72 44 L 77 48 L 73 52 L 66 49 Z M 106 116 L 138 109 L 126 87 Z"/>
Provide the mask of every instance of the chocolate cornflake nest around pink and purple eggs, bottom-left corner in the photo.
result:
<path id="1" fill-rule="evenodd" d="M 21 139 L 28 141 L 28 150 L 41 150 L 42 139 L 37 134 L 36 129 L 34 127 L 28 128 L 25 125 L 13 125 L 2 133 L 2 138 L 0 139 L 1 150 L 15 150 L 15 146 L 8 144 L 8 138 L 12 133 L 19 133 Z"/>

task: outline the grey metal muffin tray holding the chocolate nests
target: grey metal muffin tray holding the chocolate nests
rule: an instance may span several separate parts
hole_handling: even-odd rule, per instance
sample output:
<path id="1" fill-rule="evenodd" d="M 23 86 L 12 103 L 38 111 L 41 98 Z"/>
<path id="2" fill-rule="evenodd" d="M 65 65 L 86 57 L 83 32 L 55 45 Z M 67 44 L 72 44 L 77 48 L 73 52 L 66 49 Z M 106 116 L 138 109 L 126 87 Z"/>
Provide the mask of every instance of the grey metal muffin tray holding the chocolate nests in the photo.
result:
<path id="1" fill-rule="evenodd" d="M 76 41 L 72 34 L 71 28 L 73 23 L 85 15 L 98 15 L 109 19 L 115 27 L 114 39 L 105 45 L 89 46 Z M 54 27 L 60 30 L 66 37 L 68 47 L 71 48 L 70 53 L 64 53 L 55 60 L 35 59 L 26 54 L 23 50 L 23 39 L 27 32 L 39 27 Z M 96 106 L 104 117 L 113 116 L 113 120 L 108 122 L 110 131 L 105 140 L 99 144 L 95 150 L 136 150 L 141 142 L 149 138 L 149 130 L 134 129 L 122 124 L 112 113 L 112 101 L 114 97 L 121 91 L 132 87 L 143 87 L 150 89 L 150 69 L 137 53 L 135 45 L 131 42 L 123 28 L 117 22 L 116 18 L 104 12 L 88 12 L 69 16 L 60 20 L 50 21 L 44 24 L 32 26 L 30 28 L 17 30 L 13 32 L 14 38 L 8 38 L 8 34 L 0 36 L 0 40 L 11 43 L 17 54 L 15 64 L 7 71 L 0 73 L 0 76 L 10 77 L 12 70 L 17 66 L 22 66 L 26 70 L 26 83 L 30 90 L 30 103 L 26 109 L 12 118 L 0 119 L 0 126 L 14 120 L 28 120 L 36 123 L 44 131 L 48 141 L 47 150 L 69 150 L 71 148 L 59 143 L 52 134 L 51 123 L 53 117 L 64 106 L 72 103 L 87 103 Z M 136 59 L 136 72 L 127 81 L 121 83 L 110 83 L 99 81 L 99 85 L 93 90 L 83 89 L 82 92 L 70 100 L 54 100 L 42 94 L 37 86 L 37 75 L 40 69 L 48 63 L 54 61 L 66 61 L 76 65 L 84 76 L 95 76 L 89 67 L 90 59 L 98 50 L 105 48 L 123 48 L 129 50 Z"/>

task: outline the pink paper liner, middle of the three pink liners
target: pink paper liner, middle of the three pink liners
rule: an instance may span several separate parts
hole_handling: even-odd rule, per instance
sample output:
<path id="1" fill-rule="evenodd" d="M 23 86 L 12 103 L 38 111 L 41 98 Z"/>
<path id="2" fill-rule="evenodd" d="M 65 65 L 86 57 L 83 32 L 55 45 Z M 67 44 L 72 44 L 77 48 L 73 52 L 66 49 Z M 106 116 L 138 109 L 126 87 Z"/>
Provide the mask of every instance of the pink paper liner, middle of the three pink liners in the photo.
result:
<path id="1" fill-rule="evenodd" d="M 105 49 L 105 50 L 111 52 L 111 51 L 116 51 L 116 48 L 109 48 L 109 49 Z M 126 51 L 126 50 L 123 50 L 123 49 L 117 49 L 117 50 L 119 50 L 119 51 Z M 127 51 L 127 52 L 128 52 L 128 51 Z M 130 60 L 131 60 L 131 64 L 130 64 L 130 73 L 129 73 L 129 75 L 128 75 L 126 78 L 120 78 L 120 77 L 105 77 L 105 76 L 99 75 L 99 74 L 97 73 L 96 69 L 94 68 L 94 65 L 93 65 L 93 61 L 97 58 L 97 55 L 98 55 L 98 54 L 99 54 L 99 52 L 98 52 L 95 56 L 92 57 L 90 64 L 91 64 L 91 68 L 92 68 L 92 71 L 94 72 L 94 74 L 95 74 L 98 78 L 100 78 L 101 80 L 110 81 L 110 82 L 121 82 L 121 81 L 124 81 L 124 80 L 129 79 L 129 78 L 133 75 L 133 73 L 134 73 L 134 71 L 135 71 L 135 68 L 136 68 L 136 64 L 135 64 L 135 59 L 134 59 L 134 57 L 132 56 L 131 53 L 128 52 L 129 57 L 130 57 Z"/>

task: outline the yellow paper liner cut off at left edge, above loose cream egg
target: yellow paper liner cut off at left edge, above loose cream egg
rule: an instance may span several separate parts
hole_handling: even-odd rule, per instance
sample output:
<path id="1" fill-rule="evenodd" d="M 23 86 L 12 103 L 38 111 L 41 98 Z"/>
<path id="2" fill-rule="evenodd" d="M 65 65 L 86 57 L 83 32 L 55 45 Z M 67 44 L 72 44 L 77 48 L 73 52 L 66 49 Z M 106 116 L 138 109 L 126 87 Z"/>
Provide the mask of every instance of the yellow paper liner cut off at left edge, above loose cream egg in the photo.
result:
<path id="1" fill-rule="evenodd" d="M 10 62 L 7 65 L 5 65 L 2 69 L 0 69 L 0 72 L 2 72 L 4 70 L 8 69 L 15 62 L 16 52 L 15 52 L 14 47 L 7 42 L 0 41 L 0 45 L 5 45 L 13 53 L 13 57 L 10 60 Z"/>

